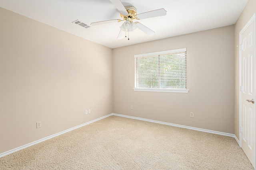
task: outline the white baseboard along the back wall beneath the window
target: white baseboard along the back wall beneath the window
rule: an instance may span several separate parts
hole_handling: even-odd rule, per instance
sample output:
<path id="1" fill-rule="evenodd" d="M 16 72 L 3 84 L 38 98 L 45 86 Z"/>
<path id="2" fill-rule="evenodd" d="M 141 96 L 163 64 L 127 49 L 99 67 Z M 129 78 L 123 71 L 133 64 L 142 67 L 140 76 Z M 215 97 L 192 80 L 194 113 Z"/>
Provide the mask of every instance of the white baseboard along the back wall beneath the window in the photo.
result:
<path id="1" fill-rule="evenodd" d="M 213 134 L 222 135 L 222 136 L 235 137 L 235 135 L 231 134 L 231 133 L 211 131 L 211 130 L 207 130 L 207 129 L 200 129 L 200 128 L 196 128 L 196 127 L 177 125 L 177 124 L 174 124 L 174 123 L 167 123 L 167 122 L 163 122 L 163 121 L 156 121 L 156 120 L 151 120 L 151 119 L 144 119 L 144 118 L 139 118 L 139 117 L 120 115 L 120 114 L 116 114 L 116 113 L 112 113 L 112 115 L 120 116 L 120 117 L 126 117 L 126 118 L 130 118 L 130 119 L 137 119 L 137 120 L 142 120 L 142 121 L 149 121 L 149 122 L 152 122 L 152 123 L 159 123 L 159 124 L 162 124 L 162 125 L 181 127 L 181 128 L 185 128 L 185 129 L 191 129 L 191 130 L 201 131 L 201 132 L 206 132 L 206 133 L 213 133 Z"/>

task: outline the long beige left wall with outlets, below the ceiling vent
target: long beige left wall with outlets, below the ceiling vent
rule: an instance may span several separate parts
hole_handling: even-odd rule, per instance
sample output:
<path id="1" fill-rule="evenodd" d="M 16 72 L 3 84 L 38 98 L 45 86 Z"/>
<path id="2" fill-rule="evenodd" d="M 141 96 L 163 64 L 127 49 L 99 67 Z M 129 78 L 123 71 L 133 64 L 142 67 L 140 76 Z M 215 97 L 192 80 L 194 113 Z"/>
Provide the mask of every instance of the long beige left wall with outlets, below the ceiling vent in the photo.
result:
<path id="1" fill-rule="evenodd" d="M 0 153 L 113 112 L 112 49 L 3 8 L 0 23 Z"/>

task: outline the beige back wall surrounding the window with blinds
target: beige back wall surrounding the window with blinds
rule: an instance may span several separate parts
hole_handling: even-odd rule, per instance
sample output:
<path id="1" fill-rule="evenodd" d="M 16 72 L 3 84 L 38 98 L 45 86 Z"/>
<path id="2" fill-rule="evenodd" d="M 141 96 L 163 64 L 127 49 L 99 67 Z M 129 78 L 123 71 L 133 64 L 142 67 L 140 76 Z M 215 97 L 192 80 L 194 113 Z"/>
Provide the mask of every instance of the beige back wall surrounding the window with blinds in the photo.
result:
<path id="1" fill-rule="evenodd" d="M 188 93 L 133 91 L 134 55 L 179 48 Z M 114 113 L 234 134 L 234 25 L 114 49 L 113 80 Z"/>

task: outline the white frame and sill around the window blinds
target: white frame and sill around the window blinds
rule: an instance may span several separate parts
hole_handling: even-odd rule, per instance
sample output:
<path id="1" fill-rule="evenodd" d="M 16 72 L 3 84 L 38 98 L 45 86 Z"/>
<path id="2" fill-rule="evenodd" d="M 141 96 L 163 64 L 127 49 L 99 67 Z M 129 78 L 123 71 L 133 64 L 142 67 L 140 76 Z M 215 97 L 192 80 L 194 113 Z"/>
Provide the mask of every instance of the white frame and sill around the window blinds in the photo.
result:
<path id="1" fill-rule="evenodd" d="M 175 49 L 175 50 L 168 50 L 168 51 L 160 51 L 160 52 L 155 52 L 155 53 L 147 53 L 147 54 L 140 54 L 140 55 L 134 55 L 134 91 L 147 91 L 147 92 L 177 92 L 177 93 L 188 93 L 189 90 L 185 88 L 138 88 L 136 87 L 136 69 L 137 69 L 137 63 L 136 63 L 136 58 L 140 57 L 151 57 L 151 56 L 156 56 L 156 55 L 165 55 L 165 54 L 175 54 L 175 53 L 180 53 L 180 52 L 185 52 L 186 54 L 187 49 Z M 185 56 L 185 62 L 186 62 L 186 56 Z M 187 70 L 187 66 L 186 66 Z M 187 78 L 186 78 L 187 81 Z M 186 85 L 185 85 L 186 86 Z"/>

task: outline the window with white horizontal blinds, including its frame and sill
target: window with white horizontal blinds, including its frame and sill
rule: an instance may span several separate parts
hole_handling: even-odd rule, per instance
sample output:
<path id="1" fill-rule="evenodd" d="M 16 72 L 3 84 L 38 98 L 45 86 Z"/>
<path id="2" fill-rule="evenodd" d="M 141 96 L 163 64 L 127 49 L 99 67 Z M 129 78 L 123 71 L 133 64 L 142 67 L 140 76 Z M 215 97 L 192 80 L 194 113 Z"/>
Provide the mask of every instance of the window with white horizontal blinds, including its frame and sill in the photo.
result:
<path id="1" fill-rule="evenodd" d="M 187 93 L 186 48 L 134 55 L 134 91 Z"/>

